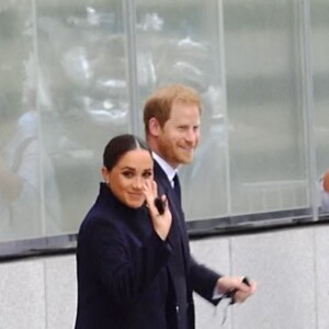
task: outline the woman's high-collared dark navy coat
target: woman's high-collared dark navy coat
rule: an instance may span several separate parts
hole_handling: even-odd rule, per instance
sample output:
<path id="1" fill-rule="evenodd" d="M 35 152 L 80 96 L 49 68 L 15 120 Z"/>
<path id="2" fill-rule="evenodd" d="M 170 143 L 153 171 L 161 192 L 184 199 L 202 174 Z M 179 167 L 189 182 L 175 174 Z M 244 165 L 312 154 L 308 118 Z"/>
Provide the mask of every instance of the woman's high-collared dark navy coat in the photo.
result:
<path id="1" fill-rule="evenodd" d="M 146 207 L 124 206 L 101 183 L 78 235 L 76 329 L 177 328 L 171 254 Z"/>

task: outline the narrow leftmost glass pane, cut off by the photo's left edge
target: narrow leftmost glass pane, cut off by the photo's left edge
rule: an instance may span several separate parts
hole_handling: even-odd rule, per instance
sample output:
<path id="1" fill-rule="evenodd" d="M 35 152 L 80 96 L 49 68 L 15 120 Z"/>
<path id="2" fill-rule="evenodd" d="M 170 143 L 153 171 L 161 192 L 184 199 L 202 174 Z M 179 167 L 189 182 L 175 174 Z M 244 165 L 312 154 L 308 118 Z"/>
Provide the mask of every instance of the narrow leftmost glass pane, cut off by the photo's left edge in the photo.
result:
<path id="1" fill-rule="evenodd" d="M 31 1 L 0 5 L 0 240 L 42 234 L 38 115 L 27 105 Z"/>

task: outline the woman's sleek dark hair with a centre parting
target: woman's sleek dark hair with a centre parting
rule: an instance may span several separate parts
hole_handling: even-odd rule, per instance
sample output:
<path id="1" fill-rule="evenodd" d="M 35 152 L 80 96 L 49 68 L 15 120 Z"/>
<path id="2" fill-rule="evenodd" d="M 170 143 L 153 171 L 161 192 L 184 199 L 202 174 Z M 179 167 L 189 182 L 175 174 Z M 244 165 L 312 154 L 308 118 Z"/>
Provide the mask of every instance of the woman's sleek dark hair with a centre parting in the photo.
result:
<path id="1" fill-rule="evenodd" d="M 122 156 L 134 149 L 145 149 L 151 155 L 148 145 L 135 135 L 124 134 L 113 137 L 104 149 L 103 166 L 112 170 Z"/>

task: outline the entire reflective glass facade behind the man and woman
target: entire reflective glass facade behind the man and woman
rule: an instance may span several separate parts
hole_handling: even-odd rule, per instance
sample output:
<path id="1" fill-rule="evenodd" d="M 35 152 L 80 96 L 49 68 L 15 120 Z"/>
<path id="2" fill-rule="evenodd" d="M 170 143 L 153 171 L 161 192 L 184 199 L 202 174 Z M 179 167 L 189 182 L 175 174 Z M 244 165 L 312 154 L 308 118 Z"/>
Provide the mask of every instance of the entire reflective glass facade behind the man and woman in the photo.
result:
<path id="1" fill-rule="evenodd" d="M 0 25 L 0 241 L 77 232 L 105 144 L 171 82 L 203 99 L 186 220 L 329 211 L 326 1 L 3 0 Z"/>

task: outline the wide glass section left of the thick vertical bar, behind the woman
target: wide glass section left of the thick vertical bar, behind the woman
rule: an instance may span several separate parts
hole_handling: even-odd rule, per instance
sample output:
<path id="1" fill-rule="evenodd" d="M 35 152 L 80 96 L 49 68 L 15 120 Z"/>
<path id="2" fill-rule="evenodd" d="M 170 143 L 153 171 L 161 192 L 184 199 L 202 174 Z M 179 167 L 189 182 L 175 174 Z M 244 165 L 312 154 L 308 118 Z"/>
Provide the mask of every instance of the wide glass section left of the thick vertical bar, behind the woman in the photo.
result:
<path id="1" fill-rule="evenodd" d="M 131 129 L 123 8 L 2 2 L 0 239 L 76 232 L 104 145 Z"/>

